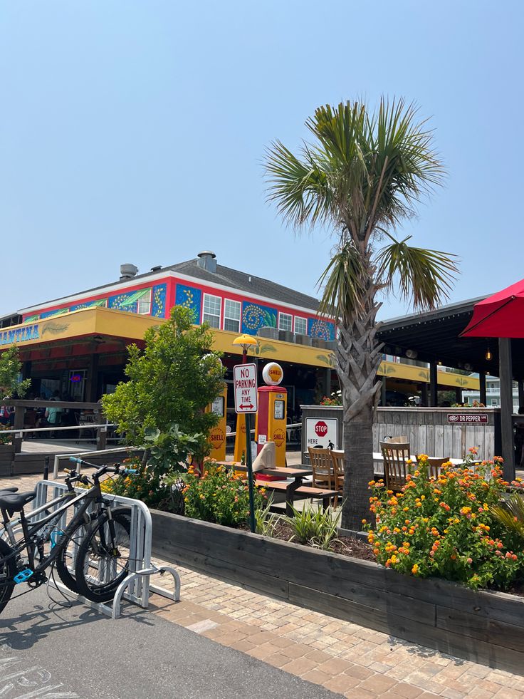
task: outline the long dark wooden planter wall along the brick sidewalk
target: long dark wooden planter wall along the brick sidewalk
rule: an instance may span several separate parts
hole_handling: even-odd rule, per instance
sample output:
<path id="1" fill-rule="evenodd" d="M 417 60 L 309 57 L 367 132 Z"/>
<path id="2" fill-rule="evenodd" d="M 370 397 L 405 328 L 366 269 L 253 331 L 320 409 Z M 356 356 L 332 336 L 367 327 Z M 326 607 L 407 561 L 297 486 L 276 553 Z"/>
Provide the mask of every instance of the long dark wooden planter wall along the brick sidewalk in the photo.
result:
<path id="1" fill-rule="evenodd" d="M 152 510 L 157 556 L 492 668 L 524 673 L 524 598 Z"/>

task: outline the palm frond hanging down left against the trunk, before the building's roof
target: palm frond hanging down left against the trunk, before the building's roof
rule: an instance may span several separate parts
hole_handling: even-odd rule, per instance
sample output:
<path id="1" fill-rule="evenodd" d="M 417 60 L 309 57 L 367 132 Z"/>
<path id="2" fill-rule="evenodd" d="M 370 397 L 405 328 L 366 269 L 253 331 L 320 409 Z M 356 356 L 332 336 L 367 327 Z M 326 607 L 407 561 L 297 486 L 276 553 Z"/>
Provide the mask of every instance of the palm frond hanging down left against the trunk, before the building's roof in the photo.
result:
<path id="1" fill-rule="evenodd" d="M 323 287 L 319 313 L 345 319 L 362 308 L 362 257 L 352 241 L 347 242 L 327 265 L 318 280 Z"/>

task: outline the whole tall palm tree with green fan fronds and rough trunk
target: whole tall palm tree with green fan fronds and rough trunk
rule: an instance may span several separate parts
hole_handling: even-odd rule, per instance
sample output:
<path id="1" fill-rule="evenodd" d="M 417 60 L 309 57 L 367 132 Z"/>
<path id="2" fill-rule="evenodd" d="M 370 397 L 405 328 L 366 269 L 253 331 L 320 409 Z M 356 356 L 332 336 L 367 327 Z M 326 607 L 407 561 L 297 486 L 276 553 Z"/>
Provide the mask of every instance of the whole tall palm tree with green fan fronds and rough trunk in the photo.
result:
<path id="1" fill-rule="evenodd" d="M 320 313 L 337 319 L 337 374 L 342 388 L 345 485 L 342 526 L 359 529 L 368 516 L 373 476 L 372 423 L 379 398 L 379 292 L 398 289 L 414 309 L 448 296 L 454 255 L 412 247 L 394 229 L 414 216 L 421 195 L 441 183 L 444 167 L 433 133 L 413 104 L 382 98 L 326 105 L 305 125 L 315 143 L 298 155 L 276 140 L 265 158 L 268 200 L 299 231 L 330 227 L 336 244 L 319 280 Z"/>

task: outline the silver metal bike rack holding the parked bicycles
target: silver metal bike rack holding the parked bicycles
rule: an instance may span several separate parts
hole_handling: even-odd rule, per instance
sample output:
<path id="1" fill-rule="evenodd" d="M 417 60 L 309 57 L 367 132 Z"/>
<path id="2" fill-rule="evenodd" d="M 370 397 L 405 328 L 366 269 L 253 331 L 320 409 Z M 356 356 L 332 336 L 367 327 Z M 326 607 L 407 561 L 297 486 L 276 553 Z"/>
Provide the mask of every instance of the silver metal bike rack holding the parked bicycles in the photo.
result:
<path id="1" fill-rule="evenodd" d="M 63 483 L 58 483 L 51 480 L 38 481 L 38 484 L 36 485 L 36 498 L 33 500 L 33 509 L 26 515 L 27 519 L 35 519 L 35 521 L 38 521 L 38 519 L 43 516 L 43 512 L 46 509 L 46 503 L 49 502 L 49 500 L 58 497 L 58 495 L 61 495 L 62 492 L 66 491 L 67 487 Z M 78 492 L 78 494 L 85 492 L 85 490 L 81 488 L 75 488 L 75 491 Z M 122 581 L 122 583 L 120 583 L 120 586 L 118 586 L 115 592 L 115 597 L 112 600 L 112 604 L 110 602 L 93 602 L 85 599 L 85 597 L 76 594 L 58 581 L 54 581 L 54 585 L 64 594 L 72 596 L 75 599 L 88 604 L 94 609 L 102 611 L 108 616 L 111 616 L 113 619 L 120 616 L 122 598 L 134 604 L 140 605 L 142 609 L 147 609 L 147 606 L 149 605 L 150 593 L 152 592 L 163 597 L 167 597 L 168 599 L 179 601 L 180 576 L 177 571 L 172 568 L 172 566 L 157 566 L 151 561 L 153 527 L 151 513 L 147 505 L 140 500 L 135 500 L 130 497 L 122 497 L 121 495 L 104 493 L 103 497 L 115 505 L 122 505 L 123 507 L 130 508 L 131 510 L 129 575 Z M 66 528 L 66 514 L 67 511 L 63 513 L 61 522 L 59 522 L 57 525 L 61 529 Z M 70 565 L 70 569 L 73 572 L 77 548 L 78 547 L 76 545 L 73 547 L 73 559 Z M 103 577 L 103 572 L 103 570 L 99 571 L 100 579 Z M 174 592 L 170 592 L 162 587 L 151 584 L 150 576 L 157 573 L 169 573 L 173 576 Z"/>

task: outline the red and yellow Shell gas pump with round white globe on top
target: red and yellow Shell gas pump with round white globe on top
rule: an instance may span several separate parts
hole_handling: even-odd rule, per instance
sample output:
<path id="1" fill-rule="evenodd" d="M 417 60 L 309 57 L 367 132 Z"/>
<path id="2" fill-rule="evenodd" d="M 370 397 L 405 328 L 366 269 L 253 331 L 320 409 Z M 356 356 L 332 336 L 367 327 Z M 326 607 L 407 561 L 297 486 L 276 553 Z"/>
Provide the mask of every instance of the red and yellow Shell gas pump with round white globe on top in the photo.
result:
<path id="1" fill-rule="evenodd" d="M 275 465 L 285 466 L 285 437 L 287 425 L 288 391 L 278 384 L 284 378 L 280 364 L 271 362 L 262 371 L 267 385 L 258 388 L 255 439 L 258 452 L 266 442 L 275 442 Z"/>

